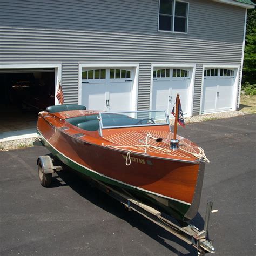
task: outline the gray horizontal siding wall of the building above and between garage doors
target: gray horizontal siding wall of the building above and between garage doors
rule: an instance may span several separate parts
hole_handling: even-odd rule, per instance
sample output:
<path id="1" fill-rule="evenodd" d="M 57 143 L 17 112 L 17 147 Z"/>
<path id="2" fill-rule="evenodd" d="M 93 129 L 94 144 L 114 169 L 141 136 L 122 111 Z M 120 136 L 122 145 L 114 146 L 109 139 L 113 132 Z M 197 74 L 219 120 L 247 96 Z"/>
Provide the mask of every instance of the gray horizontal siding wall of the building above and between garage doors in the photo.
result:
<path id="1" fill-rule="evenodd" d="M 158 32 L 158 0 L 0 2 L 1 63 L 62 63 L 65 103 L 78 102 L 79 63 L 139 63 L 138 109 L 149 109 L 152 63 L 237 64 L 245 9 L 189 0 L 188 33 Z"/>

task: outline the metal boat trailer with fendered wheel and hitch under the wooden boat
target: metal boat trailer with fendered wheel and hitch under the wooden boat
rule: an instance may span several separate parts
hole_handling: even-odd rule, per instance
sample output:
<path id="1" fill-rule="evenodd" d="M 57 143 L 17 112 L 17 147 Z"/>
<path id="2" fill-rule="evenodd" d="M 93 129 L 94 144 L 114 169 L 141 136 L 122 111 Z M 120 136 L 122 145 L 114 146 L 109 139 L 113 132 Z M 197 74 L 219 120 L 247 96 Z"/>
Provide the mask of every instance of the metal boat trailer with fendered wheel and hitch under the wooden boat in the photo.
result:
<path id="1" fill-rule="evenodd" d="M 52 173 L 63 169 L 61 165 L 53 165 L 53 161 L 55 160 L 57 159 L 53 159 L 50 156 L 39 156 L 37 159 L 39 180 L 41 185 L 44 187 L 50 186 Z M 59 162 L 59 160 L 57 161 Z M 90 179 L 91 186 L 97 187 L 99 190 L 118 200 L 120 203 L 125 205 L 127 210 L 133 210 L 143 215 L 145 218 L 164 228 L 164 230 L 175 235 L 177 238 L 183 240 L 188 245 L 192 245 L 194 248 L 196 248 L 198 255 L 201 256 L 205 255 L 205 253 L 215 253 L 215 247 L 212 245 L 212 241 L 207 238 L 210 214 L 211 212 L 217 212 L 217 210 L 212 211 L 212 201 L 207 203 L 204 229 L 200 231 L 193 225 L 181 227 L 177 224 L 174 224 L 169 219 L 166 219 L 163 216 L 164 214 L 162 214 L 160 211 L 128 197 L 126 194 L 115 190 L 113 187 L 106 185 L 99 180 L 93 178 Z"/>

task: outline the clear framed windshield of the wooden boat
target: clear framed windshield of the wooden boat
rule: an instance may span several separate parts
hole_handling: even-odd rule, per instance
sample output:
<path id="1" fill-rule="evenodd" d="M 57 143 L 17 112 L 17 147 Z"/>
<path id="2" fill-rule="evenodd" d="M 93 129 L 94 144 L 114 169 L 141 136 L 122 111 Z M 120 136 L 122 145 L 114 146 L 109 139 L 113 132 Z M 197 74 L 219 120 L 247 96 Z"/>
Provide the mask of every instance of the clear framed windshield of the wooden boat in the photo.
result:
<path id="1" fill-rule="evenodd" d="M 169 125 L 166 112 L 161 111 L 131 111 L 100 113 L 100 126 L 106 128 Z"/>

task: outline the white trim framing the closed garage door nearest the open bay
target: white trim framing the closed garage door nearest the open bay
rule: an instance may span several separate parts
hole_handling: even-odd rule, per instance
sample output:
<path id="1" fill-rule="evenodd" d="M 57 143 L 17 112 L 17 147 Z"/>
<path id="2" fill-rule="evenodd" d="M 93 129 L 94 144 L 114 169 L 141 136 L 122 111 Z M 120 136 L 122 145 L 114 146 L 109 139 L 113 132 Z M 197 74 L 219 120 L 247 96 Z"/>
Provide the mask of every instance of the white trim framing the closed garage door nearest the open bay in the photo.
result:
<path id="1" fill-rule="evenodd" d="M 139 63 L 79 63 L 78 104 L 82 103 L 82 68 L 134 68 L 135 73 L 131 92 L 131 111 L 136 111 L 138 109 Z"/>

